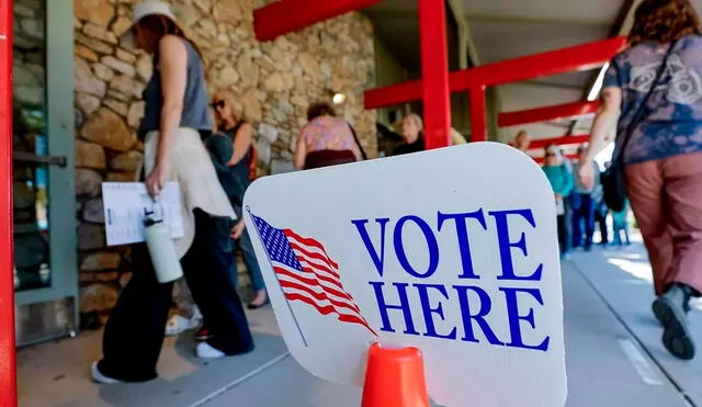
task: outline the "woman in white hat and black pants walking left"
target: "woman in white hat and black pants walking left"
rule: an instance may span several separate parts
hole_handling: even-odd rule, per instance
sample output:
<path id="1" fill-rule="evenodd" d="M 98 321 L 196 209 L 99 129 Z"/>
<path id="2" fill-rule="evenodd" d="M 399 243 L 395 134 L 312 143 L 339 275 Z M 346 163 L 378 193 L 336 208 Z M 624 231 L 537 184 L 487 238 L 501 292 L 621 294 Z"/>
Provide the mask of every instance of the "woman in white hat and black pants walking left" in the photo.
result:
<path id="1" fill-rule="evenodd" d="M 213 128 L 202 55 L 161 1 L 135 5 L 134 25 L 122 44 L 154 55 L 154 77 L 144 91 L 139 128 L 145 143 L 141 177 L 152 197 L 168 181 L 180 184 L 184 236 L 173 242 L 195 303 L 214 335 L 197 344 L 196 354 L 212 359 L 249 352 L 253 341 L 230 272 L 229 231 L 236 215 L 201 140 L 201 132 Z M 99 383 L 157 377 L 173 284 L 158 283 L 145 245 L 136 245 L 132 258 L 132 280 L 105 327 L 103 359 L 92 366 Z"/>

